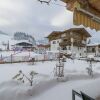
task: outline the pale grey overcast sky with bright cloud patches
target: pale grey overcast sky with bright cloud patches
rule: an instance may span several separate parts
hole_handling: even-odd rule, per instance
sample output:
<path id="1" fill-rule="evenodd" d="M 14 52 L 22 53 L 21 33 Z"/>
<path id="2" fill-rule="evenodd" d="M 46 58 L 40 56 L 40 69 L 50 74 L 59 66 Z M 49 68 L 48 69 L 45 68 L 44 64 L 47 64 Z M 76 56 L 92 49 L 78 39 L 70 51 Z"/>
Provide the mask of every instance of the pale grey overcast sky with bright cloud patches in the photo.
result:
<path id="1" fill-rule="evenodd" d="M 55 3 L 65 6 L 62 2 Z M 26 32 L 35 38 L 66 30 L 73 27 L 73 14 L 63 6 L 48 6 L 37 0 L 0 0 L 0 30 L 9 35 L 16 31 Z M 100 40 L 100 32 L 88 31 L 95 41 Z"/>

